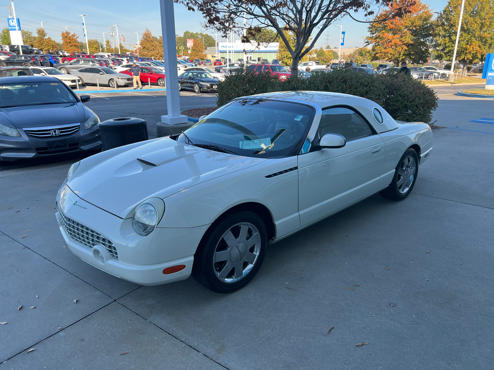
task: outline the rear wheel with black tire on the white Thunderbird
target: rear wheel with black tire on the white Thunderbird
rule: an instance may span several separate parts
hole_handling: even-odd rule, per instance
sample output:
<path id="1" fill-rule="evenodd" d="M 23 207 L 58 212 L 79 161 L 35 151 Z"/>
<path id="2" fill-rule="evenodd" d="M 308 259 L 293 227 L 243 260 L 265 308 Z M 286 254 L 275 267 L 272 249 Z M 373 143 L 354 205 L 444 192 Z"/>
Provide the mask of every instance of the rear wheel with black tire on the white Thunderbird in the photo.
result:
<path id="1" fill-rule="evenodd" d="M 379 192 L 383 197 L 392 200 L 405 199 L 413 189 L 417 181 L 418 154 L 413 149 L 408 149 L 396 166 L 395 176 L 384 190 Z"/>

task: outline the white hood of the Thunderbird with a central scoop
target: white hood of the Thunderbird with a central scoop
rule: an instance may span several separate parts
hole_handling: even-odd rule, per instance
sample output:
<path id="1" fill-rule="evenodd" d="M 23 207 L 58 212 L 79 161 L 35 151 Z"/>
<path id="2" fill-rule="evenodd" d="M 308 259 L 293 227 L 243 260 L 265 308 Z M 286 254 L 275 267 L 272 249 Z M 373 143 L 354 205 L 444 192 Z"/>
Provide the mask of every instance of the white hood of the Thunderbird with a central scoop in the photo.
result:
<path id="1" fill-rule="evenodd" d="M 150 197 L 165 198 L 265 160 L 159 138 L 82 159 L 67 185 L 86 202 L 125 219 Z"/>

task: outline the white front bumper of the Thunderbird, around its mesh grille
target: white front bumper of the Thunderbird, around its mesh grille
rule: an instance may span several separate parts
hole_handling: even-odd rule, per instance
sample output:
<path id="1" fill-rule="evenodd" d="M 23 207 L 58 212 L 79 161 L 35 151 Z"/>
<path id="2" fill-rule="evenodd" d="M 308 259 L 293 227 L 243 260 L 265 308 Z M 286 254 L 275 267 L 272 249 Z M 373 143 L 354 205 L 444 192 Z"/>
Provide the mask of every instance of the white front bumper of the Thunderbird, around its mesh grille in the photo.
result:
<path id="1" fill-rule="evenodd" d="M 86 208 L 74 205 L 73 201 Z M 131 219 L 123 220 L 85 202 L 67 185 L 59 190 L 57 204 L 59 212 L 63 212 L 66 218 L 111 241 L 118 259 L 101 263 L 93 256 L 92 248 L 69 235 L 57 212 L 60 231 L 72 253 L 102 271 L 140 285 L 161 285 L 187 279 L 192 272 L 194 253 L 208 227 L 157 227 L 151 234 L 142 237 L 133 231 Z M 184 264 L 185 269 L 163 274 L 165 268 L 179 264 Z"/>

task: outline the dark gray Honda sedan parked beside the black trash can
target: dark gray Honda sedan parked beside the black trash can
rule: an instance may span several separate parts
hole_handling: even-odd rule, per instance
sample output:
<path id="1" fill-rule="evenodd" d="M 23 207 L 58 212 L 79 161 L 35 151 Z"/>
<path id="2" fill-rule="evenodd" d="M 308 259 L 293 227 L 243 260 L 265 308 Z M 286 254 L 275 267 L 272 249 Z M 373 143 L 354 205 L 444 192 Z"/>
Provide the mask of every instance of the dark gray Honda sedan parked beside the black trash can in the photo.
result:
<path id="1" fill-rule="evenodd" d="M 89 98 L 54 77 L 0 78 L 0 161 L 101 149 Z"/>

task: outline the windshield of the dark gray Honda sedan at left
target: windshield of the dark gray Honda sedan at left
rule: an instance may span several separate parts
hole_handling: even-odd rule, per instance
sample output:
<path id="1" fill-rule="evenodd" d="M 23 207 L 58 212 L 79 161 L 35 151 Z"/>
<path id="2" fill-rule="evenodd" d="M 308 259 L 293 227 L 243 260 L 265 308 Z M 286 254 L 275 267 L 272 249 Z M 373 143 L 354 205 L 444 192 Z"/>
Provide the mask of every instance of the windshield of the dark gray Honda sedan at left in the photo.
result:
<path id="1" fill-rule="evenodd" d="M 0 108 L 77 103 L 63 82 L 0 84 Z"/>

